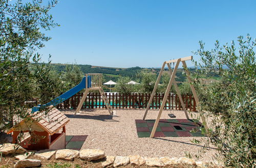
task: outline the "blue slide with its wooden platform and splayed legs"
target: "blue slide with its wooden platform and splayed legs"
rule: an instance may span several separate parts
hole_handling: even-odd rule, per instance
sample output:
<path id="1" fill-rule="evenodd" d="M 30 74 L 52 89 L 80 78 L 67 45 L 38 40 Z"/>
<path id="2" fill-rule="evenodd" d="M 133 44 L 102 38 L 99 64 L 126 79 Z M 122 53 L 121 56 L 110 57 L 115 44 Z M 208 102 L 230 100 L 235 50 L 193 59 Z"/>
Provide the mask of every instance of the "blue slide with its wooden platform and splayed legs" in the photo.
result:
<path id="1" fill-rule="evenodd" d="M 59 97 L 53 99 L 52 101 L 46 103 L 46 104 L 42 104 L 42 105 L 37 105 L 35 107 L 32 108 L 31 113 L 35 113 L 36 111 L 40 110 L 40 109 L 44 109 L 45 107 L 48 107 L 50 105 L 56 106 L 57 104 L 69 99 L 71 96 L 75 95 L 76 93 L 78 93 L 79 91 L 81 91 L 82 89 L 86 89 L 86 91 L 83 94 L 83 97 L 75 111 L 75 114 L 80 111 L 82 104 L 84 102 L 84 100 L 86 99 L 88 93 L 90 91 L 94 91 L 94 90 L 98 90 L 100 95 L 102 96 L 102 99 L 106 105 L 106 108 L 108 108 L 108 111 L 110 113 L 110 115 L 113 115 L 113 110 L 110 106 L 110 103 L 108 101 L 108 99 L 105 96 L 105 93 L 102 89 L 102 74 L 101 73 L 89 73 L 86 74 L 86 76 L 84 76 L 82 78 L 82 81 L 75 86 L 74 88 L 70 89 L 69 91 L 67 91 L 66 93 L 63 93 L 62 95 L 60 95 Z"/>

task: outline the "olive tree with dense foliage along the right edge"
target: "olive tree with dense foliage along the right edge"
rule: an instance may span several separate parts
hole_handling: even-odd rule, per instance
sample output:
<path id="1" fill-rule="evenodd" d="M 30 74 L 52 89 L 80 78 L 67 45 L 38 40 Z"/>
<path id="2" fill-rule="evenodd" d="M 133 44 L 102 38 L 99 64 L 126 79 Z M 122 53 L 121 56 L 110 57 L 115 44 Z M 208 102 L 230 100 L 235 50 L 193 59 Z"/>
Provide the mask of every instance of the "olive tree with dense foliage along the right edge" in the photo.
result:
<path id="1" fill-rule="evenodd" d="M 221 46 L 216 41 L 215 49 L 200 49 L 195 52 L 201 58 L 197 64 L 198 77 L 216 72 L 219 82 L 203 86 L 200 95 L 201 108 L 213 117 L 209 123 L 209 142 L 213 143 L 227 166 L 255 166 L 255 94 L 256 66 L 254 47 L 256 40 L 249 35 L 238 37 L 238 47 Z"/>

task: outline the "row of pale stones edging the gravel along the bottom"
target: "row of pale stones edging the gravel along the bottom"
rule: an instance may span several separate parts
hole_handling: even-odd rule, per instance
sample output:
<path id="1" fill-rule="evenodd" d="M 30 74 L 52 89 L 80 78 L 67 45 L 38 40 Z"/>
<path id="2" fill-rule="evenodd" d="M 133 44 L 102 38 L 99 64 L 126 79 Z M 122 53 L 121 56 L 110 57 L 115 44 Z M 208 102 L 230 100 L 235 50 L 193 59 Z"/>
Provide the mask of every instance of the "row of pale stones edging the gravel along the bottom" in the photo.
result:
<path id="1" fill-rule="evenodd" d="M 39 166 L 41 160 L 54 158 L 56 160 L 69 160 L 73 161 L 74 158 L 79 158 L 81 160 L 93 161 L 100 160 L 102 167 L 106 166 L 124 166 L 127 164 L 132 164 L 134 166 L 146 165 L 146 166 L 157 166 L 165 167 L 171 166 L 173 164 L 189 164 L 198 167 L 223 167 L 217 162 L 202 162 L 195 161 L 194 159 L 181 157 L 181 158 L 169 158 L 169 157 L 142 157 L 139 155 L 130 155 L 130 156 L 106 156 L 105 152 L 100 149 L 83 149 L 81 151 L 70 150 L 70 149 L 61 149 L 61 150 L 41 150 L 36 152 L 26 152 L 25 149 L 14 144 L 4 144 L 0 145 L 0 152 L 3 154 L 16 154 L 15 158 L 19 161 L 16 162 L 15 167 L 30 167 L 30 166 Z M 35 155 L 38 159 L 27 159 L 31 155 Z"/>

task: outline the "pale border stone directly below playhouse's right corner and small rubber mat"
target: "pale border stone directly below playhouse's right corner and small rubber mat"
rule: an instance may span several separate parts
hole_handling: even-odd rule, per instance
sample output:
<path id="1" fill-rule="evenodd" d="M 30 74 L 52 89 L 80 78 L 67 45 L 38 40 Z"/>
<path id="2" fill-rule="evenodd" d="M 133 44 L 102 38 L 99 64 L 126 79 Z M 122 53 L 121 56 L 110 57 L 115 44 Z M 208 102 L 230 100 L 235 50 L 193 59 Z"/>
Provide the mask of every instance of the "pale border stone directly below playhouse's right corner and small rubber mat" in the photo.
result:
<path id="1" fill-rule="evenodd" d="M 56 152 L 56 159 L 70 160 L 73 161 L 75 157 L 77 157 L 79 151 L 72 149 L 61 149 Z"/>

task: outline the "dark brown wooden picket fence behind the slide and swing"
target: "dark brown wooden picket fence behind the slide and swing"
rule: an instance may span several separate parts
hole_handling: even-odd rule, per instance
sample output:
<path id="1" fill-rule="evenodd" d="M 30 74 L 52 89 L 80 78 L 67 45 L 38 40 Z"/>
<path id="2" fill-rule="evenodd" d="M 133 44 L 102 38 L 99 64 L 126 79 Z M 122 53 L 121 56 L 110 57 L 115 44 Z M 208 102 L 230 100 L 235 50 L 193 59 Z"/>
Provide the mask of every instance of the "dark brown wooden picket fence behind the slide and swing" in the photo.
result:
<path id="1" fill-rule="evenodd" d="M 57 105 L 58 109 L 76 109 L 80 99 L 82 98 L 83 93 L 77 93 L 76 95 L 72 96 L 68 100 L 64 101 Z M 133 93 L 133 94 L 107 94 L 105 93 L 106 97 L 110 101 L 112 108 L 119 108 L 119 109 L 139 109 L 139 108 L 146 108 L 148 100 L 150 99 L 151 94 L 145 93 Z M 151 103 L 151 108 L 159 109 L 161 106 L 161 102 L 163 100 L 164 94 L 156 93 L 153 101 Z M 186 106 L 186 109 L 191 111 L 196 111 L 196 101 L 194 97 L 191 95 L 182 95 L 182 99 Z M 92 108 L 106 108 L 104 102 L 99 93 L 89 93 L 86 101 L 84 101 L 82 105 L 82 109 L 92 109 Z M 181 110 L 182 106 L 179 101 L 178 95 L 169 94 L 167 101 L 164 105 L 164 109 L 177 109 Z"/>

